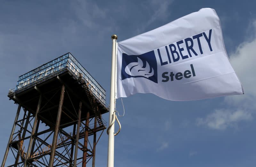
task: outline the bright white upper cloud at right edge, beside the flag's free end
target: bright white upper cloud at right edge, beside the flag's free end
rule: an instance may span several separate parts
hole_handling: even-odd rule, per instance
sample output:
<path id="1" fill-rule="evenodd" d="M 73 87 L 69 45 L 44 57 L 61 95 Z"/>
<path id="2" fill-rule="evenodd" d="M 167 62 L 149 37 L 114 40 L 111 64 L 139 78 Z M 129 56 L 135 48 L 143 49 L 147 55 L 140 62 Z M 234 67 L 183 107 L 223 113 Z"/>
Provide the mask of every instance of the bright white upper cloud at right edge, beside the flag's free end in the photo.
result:
<path id="1" fill-rule="evenodd" d="M 228 104 L 247 110 L 256 109 L 256 104 L 254 103 L 256 99 L 256 89 L 254 86 L 256 83 L 256 21 L 252 21 L 250 31 L 251 36 L 248 38 L 253 37 L 253 39 L 244 41 L 230 56 L 230 62 L 243 85 L 245 94 L 225 98 L 225 102 Z"/>

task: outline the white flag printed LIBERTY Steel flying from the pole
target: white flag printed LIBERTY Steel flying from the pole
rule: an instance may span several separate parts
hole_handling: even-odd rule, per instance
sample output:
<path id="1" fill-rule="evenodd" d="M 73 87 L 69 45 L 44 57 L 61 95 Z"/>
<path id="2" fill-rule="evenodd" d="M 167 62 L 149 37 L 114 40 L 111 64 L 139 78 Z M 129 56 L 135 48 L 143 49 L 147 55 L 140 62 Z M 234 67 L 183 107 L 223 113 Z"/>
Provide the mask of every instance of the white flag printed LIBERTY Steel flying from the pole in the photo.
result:
<path id="1" fill-rule="evenodd" d="M 153 93 L 185 101 L 244 93 L 210 8 L 118 42 L 116 75 L 116 98 Z"/>

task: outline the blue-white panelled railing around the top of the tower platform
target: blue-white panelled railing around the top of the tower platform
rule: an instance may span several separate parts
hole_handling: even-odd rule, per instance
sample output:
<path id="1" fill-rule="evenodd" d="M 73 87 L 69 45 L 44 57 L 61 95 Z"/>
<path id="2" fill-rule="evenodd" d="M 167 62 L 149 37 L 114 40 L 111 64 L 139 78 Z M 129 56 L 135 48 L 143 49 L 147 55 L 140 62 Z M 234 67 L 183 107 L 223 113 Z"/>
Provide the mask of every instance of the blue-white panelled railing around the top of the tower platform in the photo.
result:
<path id="1" fill-rule="evenodd" d="M 90 91 L 94 97 L 103 105 L 107 106 L 106 91 L 70 53 L 60 56 L 59 58 L 20 76 L 16 87 L 9 90 L 8 96 L 27 90 L 36 84 L 47 81 L 67 70 L 75 76 L 76 79 L 81 79 L 85 83 L 89 83 Z"/>

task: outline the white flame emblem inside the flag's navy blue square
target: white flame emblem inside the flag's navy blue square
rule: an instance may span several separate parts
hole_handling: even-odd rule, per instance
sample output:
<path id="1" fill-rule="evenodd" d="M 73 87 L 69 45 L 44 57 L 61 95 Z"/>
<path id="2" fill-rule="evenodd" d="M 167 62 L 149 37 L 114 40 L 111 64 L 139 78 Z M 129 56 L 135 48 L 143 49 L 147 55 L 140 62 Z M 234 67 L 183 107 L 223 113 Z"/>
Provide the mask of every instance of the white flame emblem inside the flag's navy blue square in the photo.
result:
<path id="1" fill-rule="evenodd" d="M 138 57 L 137 57 L 138 58 Z M 144 76 L 146 78 L 154 75 L 154 69 L 150 72 L 151 67 L 146 61 L 146 67 L 143 68 L 143 62 L 138 58 L 138 62 L 132 62 L 125 67 L 125 72 L 130 76 Z"/>

